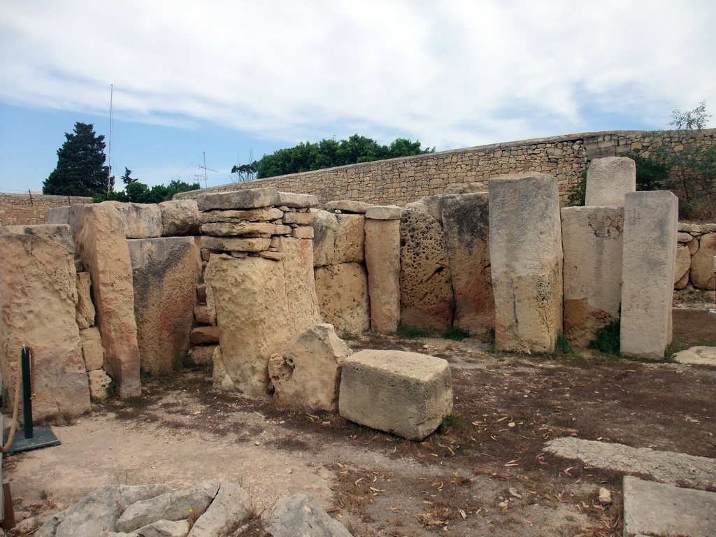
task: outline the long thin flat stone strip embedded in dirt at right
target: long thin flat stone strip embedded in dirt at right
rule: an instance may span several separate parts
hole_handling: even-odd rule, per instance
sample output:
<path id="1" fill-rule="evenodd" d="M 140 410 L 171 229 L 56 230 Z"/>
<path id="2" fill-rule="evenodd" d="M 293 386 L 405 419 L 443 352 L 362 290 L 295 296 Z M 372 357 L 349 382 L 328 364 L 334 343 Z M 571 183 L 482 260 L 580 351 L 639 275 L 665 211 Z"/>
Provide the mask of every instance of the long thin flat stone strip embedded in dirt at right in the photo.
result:
<path id="1" fill-rule="evenodd" d="M 561 437 L 547 442 L 544 451 L 566 459 L 626 474 L 649 475 L 662 483 L 713 488 L 716 485 L 716 459 L 672 451 L 630 448 L 595 440 Z"/>

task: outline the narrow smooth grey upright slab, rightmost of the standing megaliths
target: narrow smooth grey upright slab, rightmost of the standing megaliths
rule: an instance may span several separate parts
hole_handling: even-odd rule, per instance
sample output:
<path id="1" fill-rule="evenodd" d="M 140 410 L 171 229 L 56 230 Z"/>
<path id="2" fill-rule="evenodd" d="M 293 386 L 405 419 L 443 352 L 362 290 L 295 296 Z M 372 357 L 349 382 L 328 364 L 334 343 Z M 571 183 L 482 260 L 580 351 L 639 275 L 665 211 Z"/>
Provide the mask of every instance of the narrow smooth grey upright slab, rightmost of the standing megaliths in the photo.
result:
<path id="1" fill-rule="evenodd" d="M 679 202 L 666 190 L 624 197 L 621 352 L 662 359 L 672 340 Z"/>

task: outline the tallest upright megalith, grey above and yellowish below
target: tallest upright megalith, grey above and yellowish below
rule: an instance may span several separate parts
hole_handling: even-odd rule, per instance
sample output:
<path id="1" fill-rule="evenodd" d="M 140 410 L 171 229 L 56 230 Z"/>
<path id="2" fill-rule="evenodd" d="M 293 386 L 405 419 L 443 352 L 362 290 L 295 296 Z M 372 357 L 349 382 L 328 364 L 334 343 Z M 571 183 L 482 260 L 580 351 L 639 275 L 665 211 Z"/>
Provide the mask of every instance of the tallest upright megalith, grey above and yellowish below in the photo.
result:
<path id="1" fill-rule="evenodd" d="M 557 180 L 544 173 L 490 180 L 490 263 L 498 349 L 552 352 L 562 329 Z"/>

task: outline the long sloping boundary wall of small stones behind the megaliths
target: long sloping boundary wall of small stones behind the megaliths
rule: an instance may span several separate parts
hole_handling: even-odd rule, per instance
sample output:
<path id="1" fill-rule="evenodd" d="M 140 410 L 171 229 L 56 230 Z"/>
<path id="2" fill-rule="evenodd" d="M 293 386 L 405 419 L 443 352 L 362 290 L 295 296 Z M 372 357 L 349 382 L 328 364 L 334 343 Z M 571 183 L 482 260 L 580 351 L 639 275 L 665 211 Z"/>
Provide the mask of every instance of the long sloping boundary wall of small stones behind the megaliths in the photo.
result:
<path id="1" fill-rule="evenodd" d="M 440 153 L 377 160 L 326 170 L 228 183 L 179 193 L 174 199 L 193 199 L 199 193 L 274 187 L 284 192 L 316 195 L 322 203 L 350 199 L 367 203 L 405 205 L 425 195 L 442 194 L 454 183 L 486 183 L 497 175 L 539 172 L 554 175 L 563 202 L 570 185 L 592 159 L 635 150 L 644 153 L 660 145 L 669 131 L 616 130 L 504 142 Z M 679 150 L 690 143 L 713 145 L 716 129 L 689 130 L 672 140 Z"/>

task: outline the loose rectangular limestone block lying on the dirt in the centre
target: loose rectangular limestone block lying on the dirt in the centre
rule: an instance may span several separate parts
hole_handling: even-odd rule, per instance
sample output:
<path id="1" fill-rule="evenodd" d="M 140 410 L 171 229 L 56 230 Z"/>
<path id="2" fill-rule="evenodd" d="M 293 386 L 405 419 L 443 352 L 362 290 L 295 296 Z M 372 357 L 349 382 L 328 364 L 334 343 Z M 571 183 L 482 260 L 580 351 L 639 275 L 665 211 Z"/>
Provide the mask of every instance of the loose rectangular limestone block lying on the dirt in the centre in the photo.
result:
<path id="1" fill-rule="evenodd" d="M 422 440 L 452 410 L 453 377 L 441 358 L 366 349 L 343 361 L 339 412 L 347 420 Z"/>

